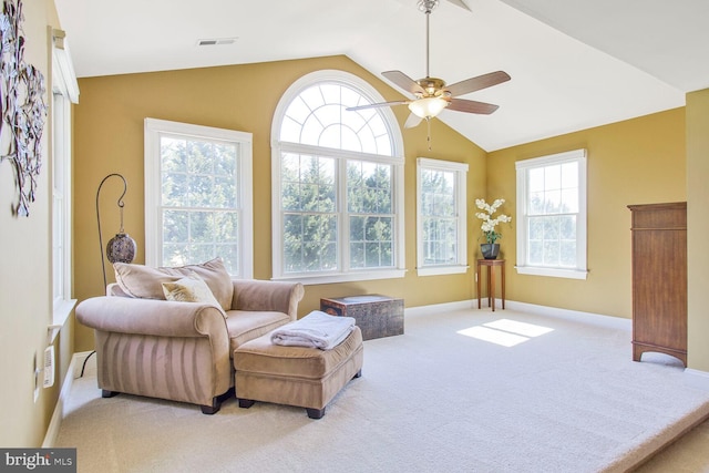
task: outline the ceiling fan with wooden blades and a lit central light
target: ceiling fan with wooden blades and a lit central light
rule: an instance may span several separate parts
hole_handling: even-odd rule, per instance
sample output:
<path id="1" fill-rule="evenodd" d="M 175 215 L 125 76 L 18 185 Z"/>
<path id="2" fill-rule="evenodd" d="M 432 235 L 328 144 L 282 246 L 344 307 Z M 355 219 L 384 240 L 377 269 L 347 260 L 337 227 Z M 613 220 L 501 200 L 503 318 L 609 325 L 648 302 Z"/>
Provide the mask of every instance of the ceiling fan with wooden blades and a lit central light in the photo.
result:
<path id="1" fill-rule="evenodd" d="M 469 8 L 461 0 L 449 1 L 469 10 Z M 387 71 L 381 73 L 384 78 L 389 79 L 394 84 L 411 92 L 415 96 L 415 99 L 350 106 L 347 110 L 353 111 L 373 109 L 379 106 L 409 105 L 411 115 L 409 115 L 409 119 L 404 123 L 404 127 L 410 128 L 417 126 L 423 119 L 425 119 L 427 121 L 433 119 L 444 109 L 483 115 L 489 115 L 499 109 L 499 105 L 465 99 L 456 99 L 456 96 L 506 82 L 510 80 L 510 75 L 506 72 L 491 72 L 487 74 L 479 75 L 476 78 L 466 79 L 448 86 L 445 85 L 444 80 L 430 76 L 429 17 L 431 16 L 433 9 L 438 7 L 438 4 L 439 0 L 419 0 L 419 10 L 425 13 L 425 78 L 414 81 L 401 71 Z"/>

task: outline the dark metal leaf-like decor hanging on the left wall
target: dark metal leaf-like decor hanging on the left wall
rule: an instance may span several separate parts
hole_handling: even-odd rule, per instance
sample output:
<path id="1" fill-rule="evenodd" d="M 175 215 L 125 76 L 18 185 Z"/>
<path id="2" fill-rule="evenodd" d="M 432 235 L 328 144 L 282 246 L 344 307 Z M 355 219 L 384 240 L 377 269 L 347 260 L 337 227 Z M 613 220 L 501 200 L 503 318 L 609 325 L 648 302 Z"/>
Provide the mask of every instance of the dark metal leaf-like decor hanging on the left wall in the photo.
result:
<path id="1" fill-rule="evenodd" d="M 24 62 L 22 0 L 3 0 L 0 14 L 0 162 L 12 163 L 17 216 L 30 215 L 42 165 L 42 131 L 47 117 L 44 76 Z"/>

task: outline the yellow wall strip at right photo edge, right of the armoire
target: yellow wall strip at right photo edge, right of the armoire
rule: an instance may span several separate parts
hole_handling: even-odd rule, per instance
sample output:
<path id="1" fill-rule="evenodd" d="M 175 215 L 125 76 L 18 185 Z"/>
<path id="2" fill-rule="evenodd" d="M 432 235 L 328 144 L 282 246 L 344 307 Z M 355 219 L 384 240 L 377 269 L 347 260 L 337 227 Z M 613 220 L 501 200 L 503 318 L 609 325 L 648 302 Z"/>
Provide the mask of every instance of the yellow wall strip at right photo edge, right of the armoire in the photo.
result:
<path id="1" fill-rule="evenodd" d="M 689 368 L 709 372 L 709 89 L 687 94 Z"/>

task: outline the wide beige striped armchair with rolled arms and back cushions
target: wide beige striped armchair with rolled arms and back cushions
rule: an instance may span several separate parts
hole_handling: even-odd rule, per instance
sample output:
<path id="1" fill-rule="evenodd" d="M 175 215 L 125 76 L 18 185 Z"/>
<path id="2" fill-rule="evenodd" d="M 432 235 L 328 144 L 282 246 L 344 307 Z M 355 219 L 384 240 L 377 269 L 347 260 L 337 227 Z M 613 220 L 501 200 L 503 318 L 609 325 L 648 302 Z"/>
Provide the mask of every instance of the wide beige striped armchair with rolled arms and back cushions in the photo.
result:
<path id="1" fill-rule="evenodd" d="M 219 259 L 181 268 L 114 268 L 117 284 L 107 295 L 76 307 L 79 322 L 95 332 L 102 395 L 189 402 L 206 414 L 219 410 L 234 385 L 234 350 L 296 320 L 304 296 L 298 282 L 233 280 Z M 206 282 L 214 297 L 171 297 L 165 288 L 185 277 Z"/>

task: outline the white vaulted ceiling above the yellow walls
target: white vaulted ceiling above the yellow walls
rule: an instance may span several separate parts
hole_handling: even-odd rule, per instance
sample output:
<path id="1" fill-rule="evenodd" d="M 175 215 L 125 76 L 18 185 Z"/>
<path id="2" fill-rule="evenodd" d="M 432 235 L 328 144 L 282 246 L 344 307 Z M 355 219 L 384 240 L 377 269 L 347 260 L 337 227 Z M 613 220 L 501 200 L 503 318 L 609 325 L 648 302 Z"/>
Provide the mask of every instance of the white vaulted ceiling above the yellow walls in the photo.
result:
<path id="1" fill-rule="evenodd" d="M 417 0 L 55 3 L 80 78 L 332 54 L 377 75 L 425 76 Z M 512 80 L 463 96 L 499 104 L 494 114 L 436 120 L 495 151 L 682 106 L 709 88 L 708 19 L 707 0 L 441 0 L 431 75 L 454 83 L 503 70 Z M 197 45 L 204 39 L 234 41 Z"/>

